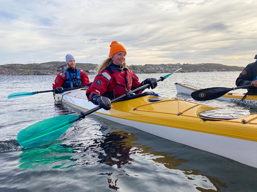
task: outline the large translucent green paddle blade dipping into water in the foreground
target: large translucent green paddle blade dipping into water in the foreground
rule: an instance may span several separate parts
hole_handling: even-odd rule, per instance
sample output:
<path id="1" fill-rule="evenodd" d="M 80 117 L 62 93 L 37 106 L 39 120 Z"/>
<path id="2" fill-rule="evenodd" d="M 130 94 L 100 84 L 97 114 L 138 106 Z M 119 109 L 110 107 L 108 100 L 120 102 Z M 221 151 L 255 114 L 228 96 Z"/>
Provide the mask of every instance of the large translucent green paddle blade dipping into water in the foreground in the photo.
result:
<path id="1" fill-rule="evenodd" d="M 37 147 L 59 138 L 79 119 L 77 115 L 62 115 L 30 125 L 17 134 L 23 147 Z"/>

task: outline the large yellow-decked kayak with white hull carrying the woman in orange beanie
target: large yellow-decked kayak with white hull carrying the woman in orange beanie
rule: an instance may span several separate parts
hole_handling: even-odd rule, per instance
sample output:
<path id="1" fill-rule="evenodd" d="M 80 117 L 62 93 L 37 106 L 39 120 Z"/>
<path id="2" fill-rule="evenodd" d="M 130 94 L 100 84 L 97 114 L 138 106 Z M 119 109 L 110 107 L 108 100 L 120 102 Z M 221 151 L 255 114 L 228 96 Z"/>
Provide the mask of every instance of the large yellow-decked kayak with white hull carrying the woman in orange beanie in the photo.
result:
<path id="1" fill-rule="evenodd" d="M 257 114 L 155 94 L 140 96 L 112 103 L 111 110 L 93 114 L 257 168 Z M 58 97 L 83 112 L 96 107 L 88 102 L 86 88 Z"/>

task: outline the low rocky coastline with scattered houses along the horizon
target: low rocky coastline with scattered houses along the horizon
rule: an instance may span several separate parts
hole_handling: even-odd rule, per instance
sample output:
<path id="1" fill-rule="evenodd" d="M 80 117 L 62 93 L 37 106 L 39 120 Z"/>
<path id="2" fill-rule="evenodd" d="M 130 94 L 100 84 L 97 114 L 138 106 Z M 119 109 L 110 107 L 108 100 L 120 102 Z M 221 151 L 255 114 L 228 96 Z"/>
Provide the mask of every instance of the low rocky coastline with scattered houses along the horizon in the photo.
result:
<path id="1" fill-rule="evenodd" d="M 51 61 L 46 63 L 29 64 L 5 64 L 0 65 L 1 75 L 57 75 L 59 68 L 66 66 L 65 62 Z M 97 64 L 76 63 L 76 67 L 81 68 L 87 74 L 95 74 Z M 227 66 L 218 63 L 180 63 L 158 64 L 158 65 L 130 65 L 128 66 L 134 73 L 171 73 L 179 68 L 178 72 L 212 72 L 212 71 L 242 71 L 244 67 Z"/>

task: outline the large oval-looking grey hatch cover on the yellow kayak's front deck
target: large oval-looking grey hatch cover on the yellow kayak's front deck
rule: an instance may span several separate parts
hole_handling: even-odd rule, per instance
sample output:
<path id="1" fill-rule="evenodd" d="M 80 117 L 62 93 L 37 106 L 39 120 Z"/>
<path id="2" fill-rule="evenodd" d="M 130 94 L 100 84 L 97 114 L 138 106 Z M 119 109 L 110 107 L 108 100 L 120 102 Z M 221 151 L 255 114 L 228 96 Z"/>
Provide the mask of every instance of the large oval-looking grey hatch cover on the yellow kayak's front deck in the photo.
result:
<path id="1" fill-rule="evenodd" d="M 249 111 L 241 109 L 214 109 L 200 113 L 201 117 L 225 120 L 238 119 L 248 115 L 250 115 Z"/>

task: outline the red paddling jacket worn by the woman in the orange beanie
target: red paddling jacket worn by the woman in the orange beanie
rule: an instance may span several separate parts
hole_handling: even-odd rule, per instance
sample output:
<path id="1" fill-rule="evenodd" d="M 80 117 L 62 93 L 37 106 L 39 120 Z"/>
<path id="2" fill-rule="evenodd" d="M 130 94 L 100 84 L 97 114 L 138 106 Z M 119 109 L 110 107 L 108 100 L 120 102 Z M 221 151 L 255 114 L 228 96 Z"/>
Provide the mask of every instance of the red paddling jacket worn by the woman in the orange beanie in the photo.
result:
<path id="1" fill-rule="evenodd" d="M 117 65 L 110 65 L 102 70 L 87 89 L 88 100 L 94 94 L 103 95 L 109 99 L 120 97 L 121 95 L 139 88 L 138 77 L 128 68 L 119 68 Z M 142 91 L 137 92 L 137 94 Z"/>

